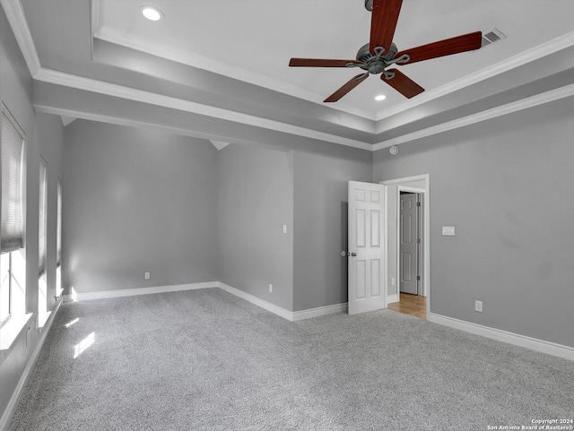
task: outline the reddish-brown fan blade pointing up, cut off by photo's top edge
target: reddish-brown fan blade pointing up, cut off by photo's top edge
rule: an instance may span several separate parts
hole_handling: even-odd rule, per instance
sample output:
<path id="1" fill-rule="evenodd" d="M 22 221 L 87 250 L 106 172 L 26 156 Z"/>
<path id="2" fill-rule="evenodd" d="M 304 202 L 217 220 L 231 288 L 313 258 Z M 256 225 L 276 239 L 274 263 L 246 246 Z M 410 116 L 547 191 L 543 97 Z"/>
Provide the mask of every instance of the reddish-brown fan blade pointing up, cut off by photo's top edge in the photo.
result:
<path id="1" fill-rule="evenodd" d="M 385 47 L 385 53 L 393 43 L 398 14 L 403 0 L 374 0 L 370 17 L 369 50 L 375 54 L 376 47 Z"/>

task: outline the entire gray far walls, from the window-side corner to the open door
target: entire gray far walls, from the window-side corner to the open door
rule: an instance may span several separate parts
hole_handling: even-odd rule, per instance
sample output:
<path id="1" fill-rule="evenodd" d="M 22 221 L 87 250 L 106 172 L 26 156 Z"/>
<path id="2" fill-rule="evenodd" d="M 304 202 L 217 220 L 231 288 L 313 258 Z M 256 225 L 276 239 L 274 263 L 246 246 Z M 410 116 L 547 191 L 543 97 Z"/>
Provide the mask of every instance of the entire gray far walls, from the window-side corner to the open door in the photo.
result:
<path id="1" fill-rule="evenodd" d="M 65 287 L 220 280 L 288 311 L 346 302 L 347 181 L 370 180 L 371 154 L 315 150 L 217 152 L 193 138 L 74 121 L 65 128 Z"/>

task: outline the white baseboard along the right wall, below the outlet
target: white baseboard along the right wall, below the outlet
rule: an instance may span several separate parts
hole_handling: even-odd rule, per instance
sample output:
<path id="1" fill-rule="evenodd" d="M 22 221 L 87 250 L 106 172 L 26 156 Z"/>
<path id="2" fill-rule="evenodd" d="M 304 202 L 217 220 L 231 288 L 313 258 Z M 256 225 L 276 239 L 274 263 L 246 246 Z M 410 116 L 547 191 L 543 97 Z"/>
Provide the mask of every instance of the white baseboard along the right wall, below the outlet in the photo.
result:
<path id="1" fill-rule="evenodd" d="M 533 349 L 552 356 L 574 360 L 574 348 L 553 343 L 551 341 L 537 340 L 514 332 L 502 331 L 489 326 L 483 326 L 482 324 L 454 319 L 446 315 L 435 315 L 434 313 L 430 313 L 427 316 L 427 320 L 429 322 L 439 323 L 461 331 L 482 335 L 483 337 L 491 338 L 492 340 L 508 342 L 509 344 L 515 344 L 520 347 L 525 347 L 526 349 Z"/>

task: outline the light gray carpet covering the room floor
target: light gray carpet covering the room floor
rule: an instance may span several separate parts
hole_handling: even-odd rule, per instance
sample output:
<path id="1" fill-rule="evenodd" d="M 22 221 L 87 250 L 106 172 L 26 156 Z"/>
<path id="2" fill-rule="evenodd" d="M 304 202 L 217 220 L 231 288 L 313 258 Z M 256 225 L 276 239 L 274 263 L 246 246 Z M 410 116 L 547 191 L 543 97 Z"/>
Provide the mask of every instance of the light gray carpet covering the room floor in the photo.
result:
<path id="1" fill-rule="evenodd" d="M 574 418 L 573 382 L 392 311 L 290 323 L 203 289 L 62 306 L 9 429 L 486 430 Z"/>

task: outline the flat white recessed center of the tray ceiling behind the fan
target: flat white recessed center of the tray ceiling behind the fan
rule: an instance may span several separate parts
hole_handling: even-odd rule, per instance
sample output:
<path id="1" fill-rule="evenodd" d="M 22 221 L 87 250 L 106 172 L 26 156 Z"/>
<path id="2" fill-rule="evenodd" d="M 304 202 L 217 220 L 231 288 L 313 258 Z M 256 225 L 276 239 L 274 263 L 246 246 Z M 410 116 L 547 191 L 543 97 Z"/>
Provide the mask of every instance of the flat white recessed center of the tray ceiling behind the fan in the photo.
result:
<path id="1" fill-rule="evenodd" d="M 93 1 L 100 11 L 94 29 L 99 39 L 319 104 L 359 72 L 290 68 L 291 56 L 353 59 L 369 40 L 363 0 Z M 143 3 L 158 7 L 164 19 L 145 20 Z M 433 91 L 444 94 L 457 80 L 491 76 L 569 34 L 572 16 L 572 0 L 404 0 L 394 41 L 400 50 L 475 30 L 496 28 L 507 36 L 475 52 L 402 67 L 426 90 L 418 98 L 429 99 Z M 376 120 L 417 99 L 409 105 L 378 78 L 371 75 L 330 106 Z M 376 101 L 381 93 L 387 99 Z"/>

